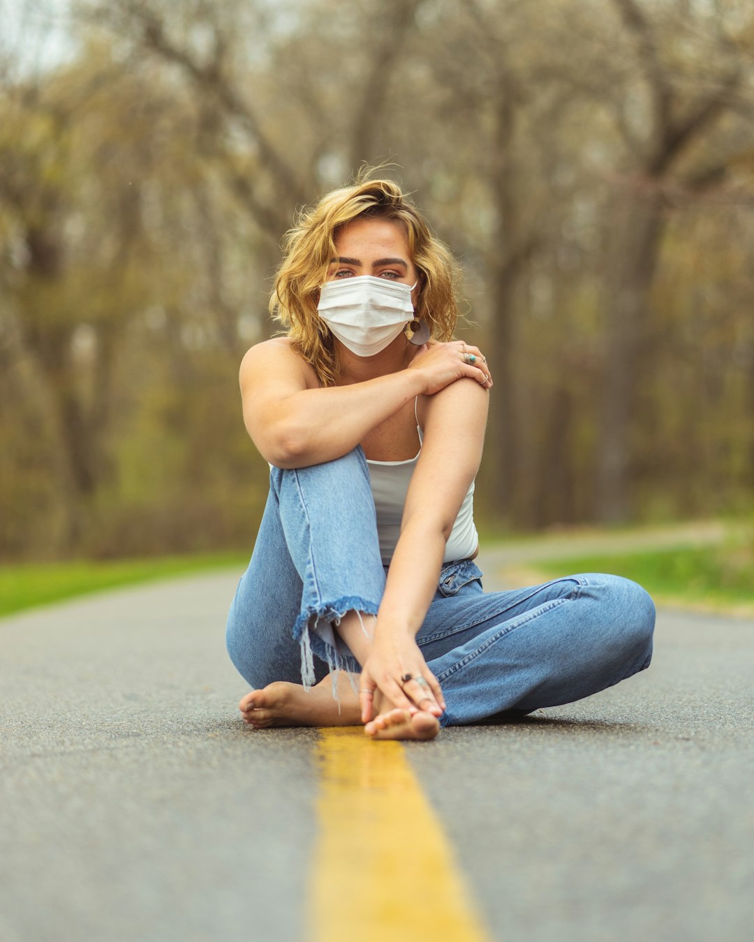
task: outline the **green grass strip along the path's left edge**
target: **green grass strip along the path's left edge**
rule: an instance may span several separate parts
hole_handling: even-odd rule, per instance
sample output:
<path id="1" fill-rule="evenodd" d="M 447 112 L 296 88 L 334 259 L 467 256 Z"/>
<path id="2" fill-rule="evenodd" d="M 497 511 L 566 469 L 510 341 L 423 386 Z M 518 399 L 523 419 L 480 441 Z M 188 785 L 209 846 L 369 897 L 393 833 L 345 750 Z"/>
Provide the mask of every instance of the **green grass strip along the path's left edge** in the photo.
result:
<path id="1" fill-rule="evenodd" d="M 2 565 L 0 615 L 58 602 L 74 595 L 208 569 L 237 566 L 240 576 L 247 561 L 248 556 L 239 553 L 208 553 L 139 560 L 75 560 Z"/>

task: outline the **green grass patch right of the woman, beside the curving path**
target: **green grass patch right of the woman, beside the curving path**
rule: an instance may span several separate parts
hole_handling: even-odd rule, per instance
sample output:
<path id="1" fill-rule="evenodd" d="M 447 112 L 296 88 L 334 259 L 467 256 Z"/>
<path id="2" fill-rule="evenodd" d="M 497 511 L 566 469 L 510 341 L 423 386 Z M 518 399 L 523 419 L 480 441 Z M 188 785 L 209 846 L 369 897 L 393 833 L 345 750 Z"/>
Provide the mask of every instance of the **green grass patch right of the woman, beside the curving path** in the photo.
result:
<path id="1" fill-rule="evenodd" d="M 754 546 L 719 546 L 600 553 L 542 560 L 546 578 L 567 573 L 609 572 L 633 579 L 660 602 L 709 609 L 754 610 Z"/>

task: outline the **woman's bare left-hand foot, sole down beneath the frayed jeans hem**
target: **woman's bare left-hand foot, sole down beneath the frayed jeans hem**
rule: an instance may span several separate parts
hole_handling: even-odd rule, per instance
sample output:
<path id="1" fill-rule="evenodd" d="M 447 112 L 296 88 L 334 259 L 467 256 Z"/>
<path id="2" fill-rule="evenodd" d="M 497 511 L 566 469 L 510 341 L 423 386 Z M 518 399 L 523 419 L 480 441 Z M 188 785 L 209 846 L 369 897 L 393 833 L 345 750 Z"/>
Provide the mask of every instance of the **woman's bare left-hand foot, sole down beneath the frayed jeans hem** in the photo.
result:
<path id="1" fill-rule="evenodd" d="M 276 680 L 260 690 L 247 693 L 238 704 L 241 716 L 254 729 L 268 726 L 357 726 L 361 723 L 358 696 L 347 674 L 333 681 L 325 677 L 311 690 L 301 684 Z M 339 701 L 339 708 L 338 708 Z"/>

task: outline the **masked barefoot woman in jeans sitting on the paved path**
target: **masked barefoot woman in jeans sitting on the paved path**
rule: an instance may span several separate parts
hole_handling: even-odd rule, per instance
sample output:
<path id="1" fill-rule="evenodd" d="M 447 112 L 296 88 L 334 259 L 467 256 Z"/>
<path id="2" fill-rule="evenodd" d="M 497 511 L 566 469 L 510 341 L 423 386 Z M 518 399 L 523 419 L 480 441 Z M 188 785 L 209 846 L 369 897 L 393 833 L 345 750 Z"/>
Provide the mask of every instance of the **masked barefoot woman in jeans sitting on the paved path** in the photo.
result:
<path id="1" fill-rule="evenodd" d="M 287 235 L 270 302 L 287 336 L 240 368 L 270 463 L 227 625 L 256 728 L 432 739 L 649 663 L 654 607 L 626 579 L 484 593 L 472 500 L 492 379 L 480 349 L 452 340 L 456 284 L 450 252 L 387 180 L 328 194 Z"/>

